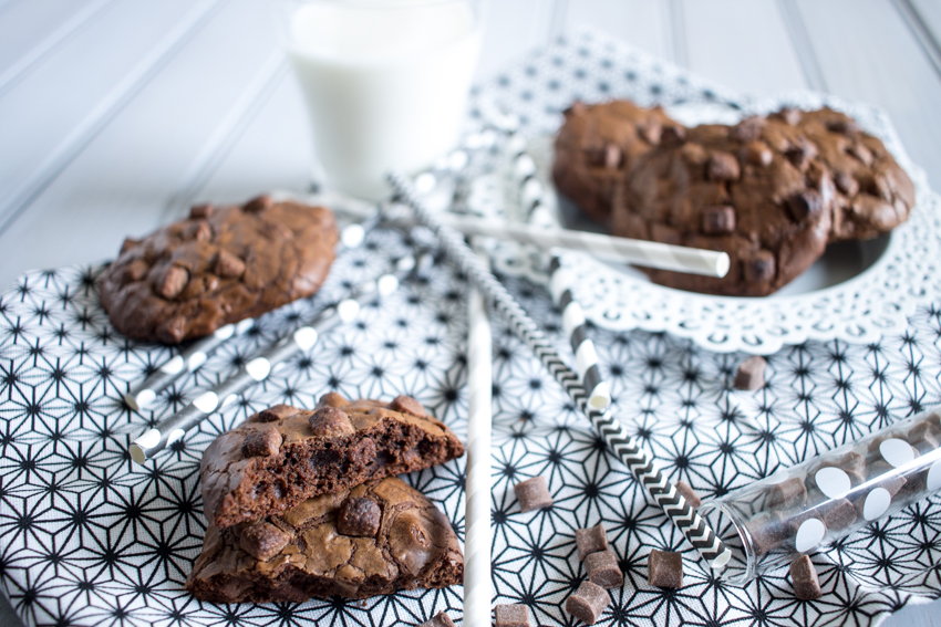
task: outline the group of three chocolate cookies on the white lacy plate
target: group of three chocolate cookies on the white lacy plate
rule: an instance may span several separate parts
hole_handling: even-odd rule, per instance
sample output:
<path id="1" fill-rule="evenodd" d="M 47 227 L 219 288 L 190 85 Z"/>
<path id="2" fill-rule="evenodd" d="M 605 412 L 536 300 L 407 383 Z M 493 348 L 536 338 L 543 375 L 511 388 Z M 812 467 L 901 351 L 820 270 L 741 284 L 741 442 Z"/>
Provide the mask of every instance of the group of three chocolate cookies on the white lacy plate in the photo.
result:
<path id="1" fill-rule="evenodd" d="M 887 233 L 914 205 L 911 180 L 882 142 L 829 108 L 685 128 L 660 107 L 576 103 L 556 139 L 552 178 L 612 234 L 727 252 L 723 279 L 648 273 L 735 296 L 771 294 L 828 243 Z"/>

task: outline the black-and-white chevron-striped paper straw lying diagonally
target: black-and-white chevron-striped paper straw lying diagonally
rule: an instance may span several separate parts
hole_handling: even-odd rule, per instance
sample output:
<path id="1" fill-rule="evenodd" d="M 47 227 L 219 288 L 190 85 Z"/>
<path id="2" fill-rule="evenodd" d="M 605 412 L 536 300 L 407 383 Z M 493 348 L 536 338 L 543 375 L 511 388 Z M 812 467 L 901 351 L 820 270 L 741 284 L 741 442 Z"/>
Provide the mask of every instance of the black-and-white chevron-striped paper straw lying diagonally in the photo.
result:
<path id="1" fill-rule="evenodd" d="M 566 366 L 558 353 L 552 348 L 541 330 L 526 315 L 523 307 L 497 281 L 490 271 L 471 251 L 461 236 L 442 226 L 412 192 L 409 181 L 399 174 L 389 175 L 390 184 L 397 195 L 412 207 L 420 223 L 431 229 L 442 243 L 447 255 L 471 279 L 474 286 L 480 290 L 490 304 L 510 323 L 514 333 L 523 339 L 542 365 L 552 374 L 576 406 L 591 420 L 594 428 L 604 438 L 608 446 L 630 469 L 651 498 L 670 518 L 686 541 L 700 553 L 702 558 L 714 569 L 725 567 L 732 557 L 732 551 L 723 544 L 715 532 L 686 503 L 676 489 L 656 469 L 653 458 L 647 453 L 640 443 L 632 438 L 623 426 L 611 416 L 606 408 L 592 409 L 588 405 L 588 394 L 578 382 L 578 375 Z"/>

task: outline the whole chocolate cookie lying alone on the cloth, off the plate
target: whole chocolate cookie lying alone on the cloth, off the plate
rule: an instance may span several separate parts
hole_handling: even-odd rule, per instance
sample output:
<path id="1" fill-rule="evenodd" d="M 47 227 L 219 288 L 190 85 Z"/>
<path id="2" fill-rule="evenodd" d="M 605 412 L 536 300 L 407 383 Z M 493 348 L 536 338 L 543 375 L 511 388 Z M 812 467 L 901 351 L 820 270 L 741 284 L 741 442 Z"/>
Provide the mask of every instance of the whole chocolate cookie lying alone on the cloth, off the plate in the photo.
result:
<path id="1" fill-rule="evenodd" d="M 194 207 L 186 220 L 124 241 L 102 275 L 102 306 L 130 337 L 178 344 L 317 292 L 338 237 L 322 207 L 267 196 Z"/>

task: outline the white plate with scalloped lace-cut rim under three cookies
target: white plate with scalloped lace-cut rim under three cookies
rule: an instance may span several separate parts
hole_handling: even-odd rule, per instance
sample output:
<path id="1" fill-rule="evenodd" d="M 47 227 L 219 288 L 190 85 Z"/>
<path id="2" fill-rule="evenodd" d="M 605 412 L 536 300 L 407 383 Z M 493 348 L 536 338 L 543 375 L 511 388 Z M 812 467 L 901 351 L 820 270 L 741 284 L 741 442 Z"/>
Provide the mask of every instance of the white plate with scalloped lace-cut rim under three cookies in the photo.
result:
<path id="1" fill-rule="evenodd" d="M 682 81 L 682 76 L 672 80 Z M 678 90 L 681 87 L 682 84 L 676 85 Z M 769 113 L 785 105 L 845 111 L 864 129 L 881 138 L 912 178 L 917 205 L 908 222 L 873 241 L 830 247 L 808 271 L 767 297 L 715 296 L 664 288 L 634 269 L 613 268 L 582 253 L 565 253 L 562 263 L 578 276 L 576 296 L 586 316 L 613 331 L 666 332 L 711 351 L 751 354 L 772 354 L 782 346 L 808 339 L 871 343 L 903 331 L 919 304 L 941 295 L 935 265 L 941 252 L 941 224 L 939 197 L 928 187 L 924 173 L 904 154 L 887 115 L 873 106 L 806 92 L 762 100 L 738 97 L 733 102 L 728 106 L 685 101 L 668 108 L 690 124 L 735 122 L 744 114 Z M 530 135 L 526 151 L 536 163 L 549 215 L 560 226 L 591 228 L 578 219 L 572 223 L 572 211 L 558 202 L 552 190 L 551 135 L 545 129 Z M 482 207 L 471 202 L 471 209 L 486 212 L 488 206 L 501 205 L 508 219 L 524 219 L 524 179 L 518 176 L 515 160 L 516 157 L 504 155 L 493 178 L 476 181 L 479 189 L 471 196 L 484 202 Z M 488 198 L 488 192 L 497 198 Z M 544 279 L 545 260 L 532 249 L 495 244 L 492 252 L 499 271 Z"/>

